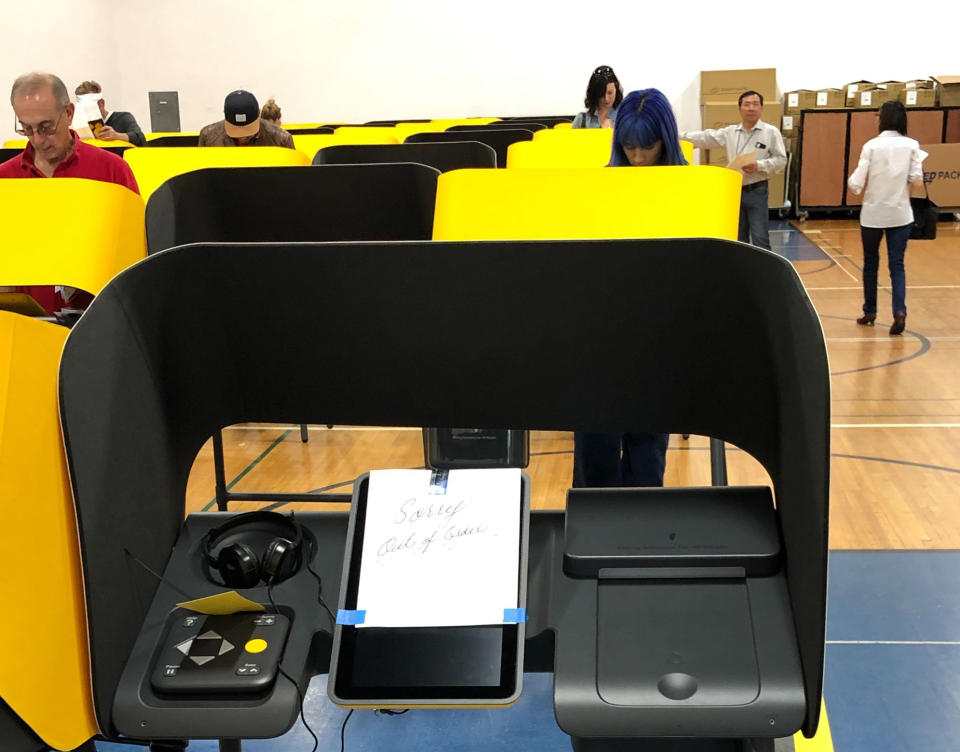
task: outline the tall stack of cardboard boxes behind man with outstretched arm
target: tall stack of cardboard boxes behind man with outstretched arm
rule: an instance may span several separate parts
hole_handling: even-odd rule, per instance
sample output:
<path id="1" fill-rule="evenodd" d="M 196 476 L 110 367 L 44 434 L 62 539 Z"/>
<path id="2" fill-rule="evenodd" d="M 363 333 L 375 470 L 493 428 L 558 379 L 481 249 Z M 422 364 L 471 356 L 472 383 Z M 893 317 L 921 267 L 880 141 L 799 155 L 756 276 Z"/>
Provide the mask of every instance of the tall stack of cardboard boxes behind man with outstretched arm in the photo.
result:
<path id="1" fill-rule="evenodd" d="M 772 125 L 781 122 L 781 104 L 777 98 L 777 69 L 752 68 L 747 70 L 700 72 L 700 122 L 702 128 L 723 128 L 740 123 L 737 100 L 745 91 L 763 95 L 763 114 L 760 119 Z M 700 164 L 727 164 L 724 149 L 701 149 Z M 770 178 L 771 208 L 784 205 L 784 174 Z"/>

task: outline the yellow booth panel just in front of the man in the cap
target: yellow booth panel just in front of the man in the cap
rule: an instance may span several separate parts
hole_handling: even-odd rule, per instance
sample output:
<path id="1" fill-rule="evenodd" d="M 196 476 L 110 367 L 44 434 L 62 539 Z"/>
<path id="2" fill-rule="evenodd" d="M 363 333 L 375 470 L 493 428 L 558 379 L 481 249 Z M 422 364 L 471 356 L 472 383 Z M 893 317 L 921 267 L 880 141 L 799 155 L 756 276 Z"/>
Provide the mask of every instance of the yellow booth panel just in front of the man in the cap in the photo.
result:
<path id="1" fill-rule="evenodd" d="M 133 169 L 144 201 L 174 175 L 205 167 L 277 167 L 310 163 L 296 149 L 282 146 L 151 146 L 149 149 L 129 149 L 123 158 Z"/>

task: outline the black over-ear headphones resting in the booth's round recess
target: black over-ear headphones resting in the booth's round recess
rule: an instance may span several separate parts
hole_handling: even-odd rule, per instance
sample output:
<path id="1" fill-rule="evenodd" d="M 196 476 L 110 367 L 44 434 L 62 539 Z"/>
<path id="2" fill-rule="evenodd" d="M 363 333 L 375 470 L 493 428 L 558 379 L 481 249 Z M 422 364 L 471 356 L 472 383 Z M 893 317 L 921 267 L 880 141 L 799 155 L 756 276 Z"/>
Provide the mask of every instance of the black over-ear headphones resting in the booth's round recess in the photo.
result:
<path id="1" fill-rule="evenodd" d="M 282 527 L 288 535 L 273 538 L 260 557 L 246 543 L 231 543 L 214 556 L 217 543 L 225 536 L 263 523 Z M 250 588 L 260 582 L 273 585 L 295 574 L 300 568 L 303 539 L 303 527 L 292 514 L 288 517 L 277 512 L 246 512 L 234 515 L 220 527 L 212 528 L 200 542 L 200 554 L 207 567 L 218 572 L 227 587 Z"/>

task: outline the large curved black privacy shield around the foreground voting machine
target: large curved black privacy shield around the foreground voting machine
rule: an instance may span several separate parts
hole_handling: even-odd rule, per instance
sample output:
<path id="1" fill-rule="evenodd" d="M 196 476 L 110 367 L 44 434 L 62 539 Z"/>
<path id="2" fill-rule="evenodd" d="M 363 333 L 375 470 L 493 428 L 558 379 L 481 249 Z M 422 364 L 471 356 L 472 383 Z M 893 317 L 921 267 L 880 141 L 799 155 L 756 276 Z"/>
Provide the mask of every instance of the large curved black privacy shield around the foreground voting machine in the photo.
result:
<path id="1" fill-rule="evenodd" d="M 60 399 L 104 728 L 146 609 L 124 548 L 163 566 L 197 451 L 245 421 L 736 444 L 773 480 L 816 727 L 829 376 L 779 256 L 700 239 L 181 247 L 97 297 L 67 340 Z"/>

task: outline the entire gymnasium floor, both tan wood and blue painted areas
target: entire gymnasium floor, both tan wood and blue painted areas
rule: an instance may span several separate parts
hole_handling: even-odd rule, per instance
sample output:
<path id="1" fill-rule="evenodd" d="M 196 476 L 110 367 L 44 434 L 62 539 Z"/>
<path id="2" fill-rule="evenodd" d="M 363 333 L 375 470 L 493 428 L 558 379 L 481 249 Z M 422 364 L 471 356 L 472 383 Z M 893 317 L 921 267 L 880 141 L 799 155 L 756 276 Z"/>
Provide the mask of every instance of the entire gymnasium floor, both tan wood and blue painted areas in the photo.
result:
<path id="1" fill-rule="evenodd" d="M 877 326 L 858 327 L 860 244 L 851 220 L 772 223 L 774 250 L 796 267 L 816 306 L 830 353 L 833 390 L 831 555 L 824 697 L 829 724 L 796 749 L 955 752 L 960 749 L 960 223 L 941 222 L 935 241 L 907 251 L 907 330 L 890 337 L 889 289 Z M 888 281 L 881 264 L 880 284 Z M 731 336 L 736 336 L 732 333 Z M 340 491 L 371 466 L 422 465 L 411 429 L 327 430 L 301 444 L 293 427 L 225 432 L 233 490 Z M 572 441 L 561 432 L 531 440 L 535 507 L 562 505 Z M 375 456 L 378 464 L 371 465 Z M 731 483 L 766 483 L 763 469 L 728 447 Z M 366 464 L 364 464 L 366 463 Z M 707 444 L 671 437 L 667 485 L 709 482 Z M 188 510 L 213 506 L 209 447 L 198 456 Z M 250 508 L 246 504 L 236 509 Z M 345 749 L 493 752 L 568 750 L 552 712 L 549 675 L 527 675 L 507 710 L 357 711 Z M 319 749 L 340 748 L 346 711 L 317 677 L 306 717 Z M 832 737 L 832 741 L 831 741 Z M 249 741 L 256 752 L 308 751 L 297 723 L 284 737 Z M 129 749 L 101 743 L 103 752 Z M 211 752 L 215 742 L 190 745 Z"/>

